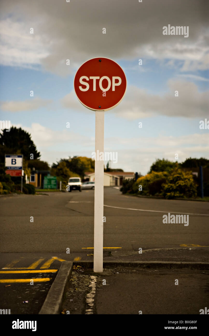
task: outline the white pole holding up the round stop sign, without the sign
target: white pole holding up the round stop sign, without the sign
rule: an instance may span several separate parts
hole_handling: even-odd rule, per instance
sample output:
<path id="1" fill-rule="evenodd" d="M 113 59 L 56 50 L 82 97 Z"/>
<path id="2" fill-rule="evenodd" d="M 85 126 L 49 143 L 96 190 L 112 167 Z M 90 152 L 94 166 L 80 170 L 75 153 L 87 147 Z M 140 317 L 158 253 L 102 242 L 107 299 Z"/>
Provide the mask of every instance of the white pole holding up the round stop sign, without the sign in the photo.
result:
<path id="1" fill-rule="evenodd" d="M 95 153 L 94 272 L 103 272 L 104 111 L 95 111 Z"/>

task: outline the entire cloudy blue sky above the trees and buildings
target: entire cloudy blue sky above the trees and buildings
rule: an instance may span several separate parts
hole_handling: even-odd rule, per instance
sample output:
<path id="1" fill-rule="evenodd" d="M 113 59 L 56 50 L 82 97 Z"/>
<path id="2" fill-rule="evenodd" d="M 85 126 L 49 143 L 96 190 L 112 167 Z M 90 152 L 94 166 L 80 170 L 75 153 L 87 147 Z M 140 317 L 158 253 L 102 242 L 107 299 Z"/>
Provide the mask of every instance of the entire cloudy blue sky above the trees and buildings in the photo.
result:
<path id="1" fill-rule="evenodd" d="M 73 90 L 93 57 L 115 60 L 127 78 L 105 112 L 111 168 L 146 174 L 157 158 L 209 159 L 209 129 L 199 128 L 209 120 L 208 1 L 1 0 L 0 9 L 0 119 L 30 132 L 42 160 L 94 152 L 95 113 Z M 188 26 L 189 37 L 163 35 L 168 25 Z"/>

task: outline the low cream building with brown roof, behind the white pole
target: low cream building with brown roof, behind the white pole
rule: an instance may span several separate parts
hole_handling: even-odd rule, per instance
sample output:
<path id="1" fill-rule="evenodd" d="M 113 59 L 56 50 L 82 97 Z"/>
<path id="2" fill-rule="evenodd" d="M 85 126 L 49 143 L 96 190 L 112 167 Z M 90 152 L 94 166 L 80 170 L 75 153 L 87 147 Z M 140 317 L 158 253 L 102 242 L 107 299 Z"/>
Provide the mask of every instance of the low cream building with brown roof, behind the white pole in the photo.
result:
<path id="1" fill-rule="evenodd" d="M 135 173 L 133 172 L 123 172 L 123 171 L 111 171 L 104 172 L 104 186 L 120 186 L 122 185 L 123 179 L 134 178 Z M 94 172 L 85 172 L 84 176 L 85 181 L 94 182 L 95 173 Z"/>

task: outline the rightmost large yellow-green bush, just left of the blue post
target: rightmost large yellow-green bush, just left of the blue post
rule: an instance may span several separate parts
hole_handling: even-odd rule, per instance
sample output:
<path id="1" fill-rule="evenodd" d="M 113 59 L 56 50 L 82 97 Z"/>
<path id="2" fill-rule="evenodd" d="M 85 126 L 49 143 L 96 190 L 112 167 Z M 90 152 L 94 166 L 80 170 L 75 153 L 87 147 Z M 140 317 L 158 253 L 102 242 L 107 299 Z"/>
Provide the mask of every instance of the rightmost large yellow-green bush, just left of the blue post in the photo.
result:
<path id="1" fill-rule="evenodd" d="M 190 198 L 197 196 L 197 184 L 194 181 L 192 172 L 174 169 L 162 184 L 163 196 L 167 199 Z"/>

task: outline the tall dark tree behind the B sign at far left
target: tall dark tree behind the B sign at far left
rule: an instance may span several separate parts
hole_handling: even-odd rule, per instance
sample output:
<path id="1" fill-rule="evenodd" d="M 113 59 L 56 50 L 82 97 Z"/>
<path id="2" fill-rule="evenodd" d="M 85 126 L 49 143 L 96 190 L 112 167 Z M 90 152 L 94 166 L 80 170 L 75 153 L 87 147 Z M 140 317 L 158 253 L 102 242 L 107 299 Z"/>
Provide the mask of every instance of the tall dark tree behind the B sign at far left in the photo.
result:
<path id="1" fill-rule="evenodd" d="M 30 155 L 34 155 L 34 159 L 40 157 L 36 146 L 31 140 L 31 135 L 23 129 L 11 127 L 10 132 L 6 129 L 0 134 L 0 160 L 4 162 L 5 154 L 23 154 L 25 160 L 30 160 Z"/>

